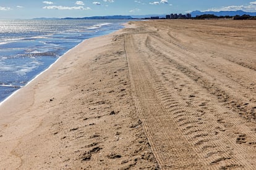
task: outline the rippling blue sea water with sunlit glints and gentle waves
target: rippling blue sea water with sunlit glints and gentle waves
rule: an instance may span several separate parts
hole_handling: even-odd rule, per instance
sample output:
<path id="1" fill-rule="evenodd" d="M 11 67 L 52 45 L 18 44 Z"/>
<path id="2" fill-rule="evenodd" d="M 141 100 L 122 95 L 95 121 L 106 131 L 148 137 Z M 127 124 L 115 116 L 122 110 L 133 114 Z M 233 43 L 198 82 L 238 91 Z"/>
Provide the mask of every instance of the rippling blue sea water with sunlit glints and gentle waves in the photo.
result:
<path id="1" fill-rule="evenodd" d="M 0 103 L 84 39 L 127 20 L 0 20 Z"/>

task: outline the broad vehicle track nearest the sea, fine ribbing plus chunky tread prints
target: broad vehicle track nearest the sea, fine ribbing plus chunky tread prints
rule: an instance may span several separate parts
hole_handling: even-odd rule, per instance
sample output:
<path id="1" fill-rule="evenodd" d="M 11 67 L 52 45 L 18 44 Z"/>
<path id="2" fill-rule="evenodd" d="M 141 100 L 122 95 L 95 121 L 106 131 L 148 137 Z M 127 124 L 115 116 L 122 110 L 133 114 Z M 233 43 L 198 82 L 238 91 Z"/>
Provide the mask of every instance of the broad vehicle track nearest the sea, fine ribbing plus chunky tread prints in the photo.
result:
<path id="1" fill-rule="evenodd" d="M 240 153 L 245 150 L 226 134 L 215 133 L 215 118 L 198 119 L 203 115 L 200 107 L 187 107 L 174 89 L 164 86 L 147 61 L 148 57 L 162 56 L 147 46 L 147 37 L 127 35 L 125 49 L 134 100 L 160 167 L 252 169 L 243 156 L 234 156 L 234 149 Z"/>

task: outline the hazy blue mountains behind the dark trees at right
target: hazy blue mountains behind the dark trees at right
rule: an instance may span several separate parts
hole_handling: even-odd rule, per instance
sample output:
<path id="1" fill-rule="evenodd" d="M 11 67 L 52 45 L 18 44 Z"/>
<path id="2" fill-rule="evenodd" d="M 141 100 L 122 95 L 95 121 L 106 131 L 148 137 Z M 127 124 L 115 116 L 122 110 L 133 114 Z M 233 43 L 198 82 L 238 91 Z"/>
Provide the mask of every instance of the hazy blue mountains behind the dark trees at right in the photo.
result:
<path id="1" fill-rule="evenodd" d="M 244 12 L 242 10 L 236 10 L 236 11 L 220 11 L 220 12 L 214 12 L 214 11 L 205 11 L 205 12 L 201 12 L 200 10 L 195 10 L 193 12 L 190 13 L 192 15 L 192 17 L 196 17 L 197 15 L 203 15 L 203 14 L 212 14 L 212 15 L 216 15 L 218 17 L 220 16 L 235 16 L 235 15 L 250 15 L 250 16 L 256 16 L 256 12 Z"/>

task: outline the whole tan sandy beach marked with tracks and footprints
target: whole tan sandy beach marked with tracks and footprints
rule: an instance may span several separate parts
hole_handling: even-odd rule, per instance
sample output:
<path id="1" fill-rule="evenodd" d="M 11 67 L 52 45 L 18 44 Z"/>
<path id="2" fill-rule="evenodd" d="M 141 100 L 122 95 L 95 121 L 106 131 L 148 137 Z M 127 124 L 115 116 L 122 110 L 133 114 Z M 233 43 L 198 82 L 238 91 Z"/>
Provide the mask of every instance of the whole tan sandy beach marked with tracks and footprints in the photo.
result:
<path id="1" fill-rule="evenodd" d="M 256 22 L 130 22 L 0 106 L 1 169 L 254 169 Z"/>

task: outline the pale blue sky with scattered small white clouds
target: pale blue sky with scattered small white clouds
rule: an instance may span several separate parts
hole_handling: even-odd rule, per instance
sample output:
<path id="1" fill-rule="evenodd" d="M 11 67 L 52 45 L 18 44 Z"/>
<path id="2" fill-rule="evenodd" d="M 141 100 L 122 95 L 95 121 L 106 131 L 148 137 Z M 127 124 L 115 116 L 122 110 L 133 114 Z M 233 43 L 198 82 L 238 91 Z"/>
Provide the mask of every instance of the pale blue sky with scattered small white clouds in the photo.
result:
<path id="1" fill-rule="evenodd" d="M 187 13 L 193 10 L 256 12 L 255 0 L 0 0 L 0 19 Z"/>

